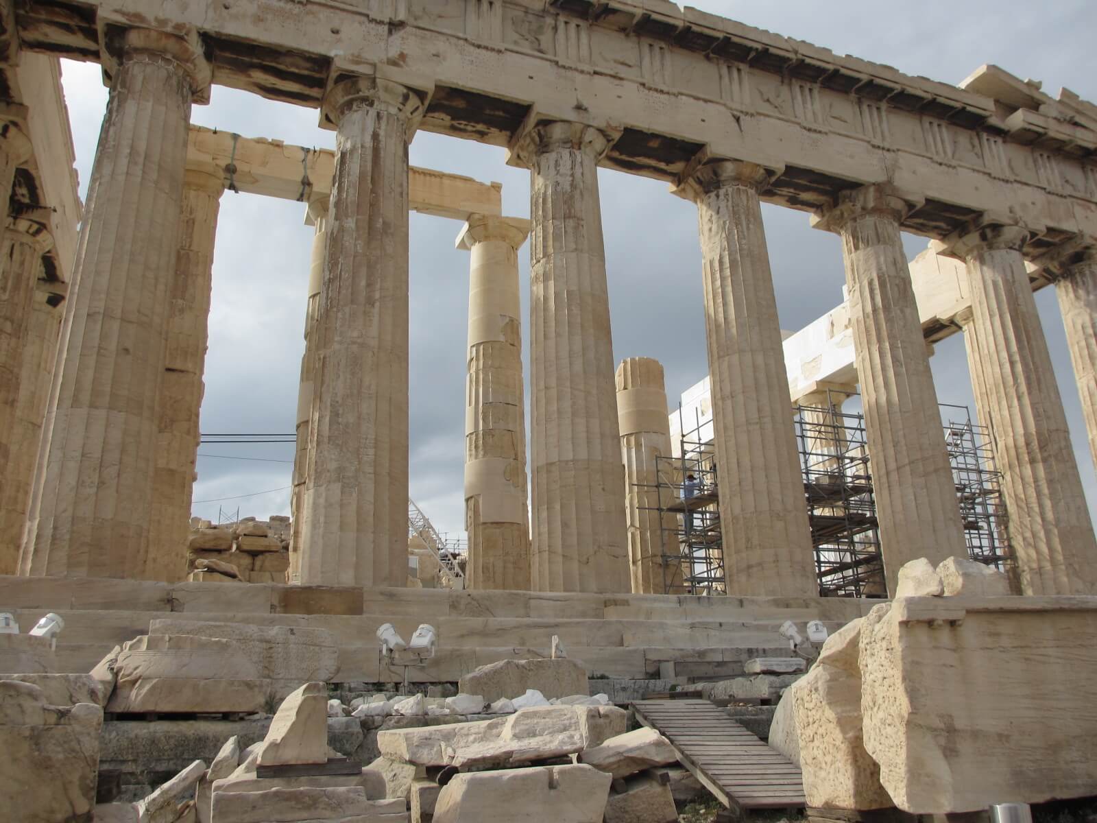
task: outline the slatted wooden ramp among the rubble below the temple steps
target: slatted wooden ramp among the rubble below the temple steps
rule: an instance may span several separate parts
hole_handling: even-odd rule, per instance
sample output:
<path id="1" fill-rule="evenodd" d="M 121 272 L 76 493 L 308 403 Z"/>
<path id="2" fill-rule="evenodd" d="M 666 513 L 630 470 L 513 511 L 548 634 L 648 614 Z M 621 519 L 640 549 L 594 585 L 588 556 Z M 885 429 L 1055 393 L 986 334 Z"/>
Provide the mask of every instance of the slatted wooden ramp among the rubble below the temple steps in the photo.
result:
<path id="1" fill-rule="evenodd" d="M 800 767 L 708 700 L 637 700 L 636 720 L 660 732 L 678 759 L 728 809 L 805 804 Z"/>

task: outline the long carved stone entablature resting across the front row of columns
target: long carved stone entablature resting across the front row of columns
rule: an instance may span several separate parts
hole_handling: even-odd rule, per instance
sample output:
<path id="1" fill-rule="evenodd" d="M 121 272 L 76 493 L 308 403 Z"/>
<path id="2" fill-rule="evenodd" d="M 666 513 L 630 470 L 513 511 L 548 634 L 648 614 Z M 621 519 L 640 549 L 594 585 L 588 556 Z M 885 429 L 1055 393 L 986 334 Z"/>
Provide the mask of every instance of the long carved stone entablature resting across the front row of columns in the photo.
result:
<path id="1" fill-rule="evenodd" d="M 925 201 L 906 230 L 1009 210 L 1032 252 L 1097 230 L 1097 115 L 1068 91 L 1054 101 L 994 67 L 957 88 L 669 2 L 547 5 L 97 0 L 16 20 L 24 48 L 77 59 L 99 59 L 118 26 L 196 27 L 214 82 L 309 106 L 399 54 L 378 71 L 432 89 L 427 131 L 508 145 L 528 120 L 579 120 L 619 135 L 603 165 L 677 181 L 699 155 L 750 160 L 782 171 L 765 199 L 795 208 L 886 177 Z"/>

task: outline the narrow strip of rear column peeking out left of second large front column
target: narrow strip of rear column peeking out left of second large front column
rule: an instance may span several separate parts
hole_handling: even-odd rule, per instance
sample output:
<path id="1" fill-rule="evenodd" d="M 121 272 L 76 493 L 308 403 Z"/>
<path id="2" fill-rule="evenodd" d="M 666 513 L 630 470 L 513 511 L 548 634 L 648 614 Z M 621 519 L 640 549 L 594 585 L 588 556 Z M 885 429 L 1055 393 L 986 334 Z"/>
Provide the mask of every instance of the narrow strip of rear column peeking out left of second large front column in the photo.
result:
<path id="1" fill-rule="evenodd" d="M 305 527 L 305 481 L 308 478 L 309 415 L 313 408 L 313 372 L 316 370 L 316 322 L 320 309 L 320 281 L 328 249 L 330 196 L 308 202 L 307 222 L 313 224 L 313 257 L 308 267 L 308 297 L 305 304 L 305 351 L 301 356 L 297 387 L 297 446 L 293 454 L 293 492 L 290 497 L 290 583 L 301 583 L 301 539 Z"/>

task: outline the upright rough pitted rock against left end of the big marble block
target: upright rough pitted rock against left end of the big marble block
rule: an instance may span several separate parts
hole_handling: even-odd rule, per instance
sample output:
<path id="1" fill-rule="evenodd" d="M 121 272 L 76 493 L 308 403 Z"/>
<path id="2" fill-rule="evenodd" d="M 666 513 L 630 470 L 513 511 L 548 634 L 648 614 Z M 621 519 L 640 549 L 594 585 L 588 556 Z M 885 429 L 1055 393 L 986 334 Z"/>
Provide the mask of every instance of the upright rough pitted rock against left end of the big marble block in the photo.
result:
<path id="1" fill-rule="evenodd" d="M 862 625 L 862 620 L 853 620 L 828 638 L 793 692 L 804 794 L 807 804 L 818 809 L 893 805 L 862 739 L 857 651 Z"/>

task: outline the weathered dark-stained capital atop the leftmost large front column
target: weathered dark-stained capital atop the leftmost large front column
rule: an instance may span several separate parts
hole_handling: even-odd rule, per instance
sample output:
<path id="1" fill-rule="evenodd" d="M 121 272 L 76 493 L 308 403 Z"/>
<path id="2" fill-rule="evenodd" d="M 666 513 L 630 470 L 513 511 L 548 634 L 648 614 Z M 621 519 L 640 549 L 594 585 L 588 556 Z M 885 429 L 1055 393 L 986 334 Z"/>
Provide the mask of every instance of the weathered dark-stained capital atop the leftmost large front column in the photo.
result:
<path id="1" fill-rule="evenodd" d="M 189 97 L 194 103 L 210 102 L 213 68 L 206 60 L 196 30 L 169 34 L 155 29 L 108 27 L 102 55 L 103 77 L 113 82 L 125 63 L 151 63 L 169 66 L 186 78 Z"/>

